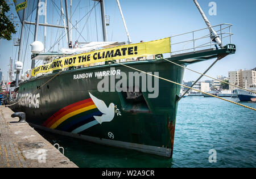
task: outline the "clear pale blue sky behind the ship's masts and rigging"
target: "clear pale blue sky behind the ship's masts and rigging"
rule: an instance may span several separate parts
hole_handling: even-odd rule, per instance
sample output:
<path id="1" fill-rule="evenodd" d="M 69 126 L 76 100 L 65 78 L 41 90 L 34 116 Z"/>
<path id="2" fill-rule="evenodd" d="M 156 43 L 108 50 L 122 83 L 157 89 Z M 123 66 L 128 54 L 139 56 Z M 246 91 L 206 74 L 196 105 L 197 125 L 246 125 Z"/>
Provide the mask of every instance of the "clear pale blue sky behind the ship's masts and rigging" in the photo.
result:
<path id="1" fill-rule="evenodd" d="M 218 75 L 228 76 L 228 71 L 253 69 L 256 67 L 256 1 L 197 1 L 212 25 L 221 23 L 233 24 L 231 28 L 231 32 L 234 34 L 232 36 L 232 44 L 235 44 L 237 47 L 236 54 L 221 59 L 221 61 L 217 62 L 207 74 L 216 78 Z M 207 27 L 192 0 L 119 0 L 119 2 L 130 33 L 131 41 L 133 42 L 163 39 L 165 37 Z M 209 6 L 210 2 L 216 3 L 216 15 L 209 14 L 209 9 L 212 7 Z M 59 0 L 47 1 L 47 23 L 60 23 L 60 25 L 63 25 L 59 15 L 59 9 L 55 6 L 59 6 L 59 4 Z M 75 20 L 77 20 L 77 22 L 80 21 L 77 25 L 77 31 L 79 32 L 75 30 L 72 31 L 72 41 L 102 41 L 100 6 L 96 5 L 96 8 L 90 11 L 93 6 L 94 1 L 90 0 L 72 1 L 73 26 L 76 24 Z M 105 0 L 105 11 L 106 15 L 110 16 L 110 25 L 107 27 L 108 41 L 127 41 L 127 35 L 116 1 Z M 14 16 L 17 16 L 14 6 L 11 6 L 9 14 L 11 13 L 13 13 Z M 16 21 L 18 20 L 19 19 L 16 18 Z M 27 20 L 34 22 L 35 13 Z M 39 22 L 44 23 L 44 16 L 40 16 Z M 13 38 L 19 38 L 20 25 L 16 28 L 16 31 L 17 33 Z M 23 36 L 22 62 L 24 62 L 24 71 L 26 71 L 31 67 L 30 44 L 34 39 L 34 25 L 26 25 L 24 31 L 26 32 Z M 44 42 L 43 36 L 44 28 L 39 27 L 38 40 Z M 51 46 L 55 44 L 59 36 L 63 37 L 63 30 L 47 28 L 47 51 L 51 49 Z M 65 36 L 60 40 L 59 45 L 60 48 L 63 46 L 64 48 L 67 48 Z M 56 44 L 51 50 L 56 51 L 57 49 L 58 45 Z M 7 79 L 10 57 L 16 61 L 18 58 L 17 54 L 18 48 L 13 45 L 13 40 L 0 40 L 0 69 L 3 71 L 5 80 Z M 210 59 L 209 61 L 195 63 L 188 67 L 202 73 L 213 63 L 213 61 L 214 59 Z M 40 62 L 37 64 L 39 65 Z M 184 80 L 186 82 L 196 80 L 199 76 L 199 74 L 185 70 Z M 201 80 L 207 79 L 209 78 L 204 77 Z"/>

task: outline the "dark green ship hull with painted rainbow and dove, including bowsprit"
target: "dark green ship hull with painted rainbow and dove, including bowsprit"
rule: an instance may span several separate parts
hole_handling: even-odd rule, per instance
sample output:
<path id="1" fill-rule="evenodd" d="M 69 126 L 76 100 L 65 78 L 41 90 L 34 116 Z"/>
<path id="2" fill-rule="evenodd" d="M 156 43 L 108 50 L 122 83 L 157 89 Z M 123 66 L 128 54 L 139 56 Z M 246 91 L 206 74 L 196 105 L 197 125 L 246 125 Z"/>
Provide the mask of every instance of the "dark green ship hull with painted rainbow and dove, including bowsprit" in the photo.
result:
<path id="1" fill-rule="evenodd" d="M 183 54 L 169 60 L 185 66 L 234 52 L 235 48 L 228 45 L 224 49 Z M 191 58 L 194 60 L 183 61 Z M 184 68 L 163 59 L 123 64 L 134 69 L 114 63 L 31 78 L 20 83 L 19 103 L 10 108 L 26 113 L 26 121 L 32 126 L 53 133 L 172 157 L 180 86 L 150 75 L 143 79 L 141 74 L 139 83 L 125 81 L 128 88 L 139 86 L 139 92 L 118 92 L 117 88 L 102 83 L 104 78 L 98 76 L 108 76 L 110 86 L 117 86 L 121 80 L 117 78 L 118 73 L 129 76 L 138 69 L 181 84 Z M 144 91 L 143 84 L 147 86 Z M 156 86 L 157 96 L 150 97 L 152 87 Z"/>

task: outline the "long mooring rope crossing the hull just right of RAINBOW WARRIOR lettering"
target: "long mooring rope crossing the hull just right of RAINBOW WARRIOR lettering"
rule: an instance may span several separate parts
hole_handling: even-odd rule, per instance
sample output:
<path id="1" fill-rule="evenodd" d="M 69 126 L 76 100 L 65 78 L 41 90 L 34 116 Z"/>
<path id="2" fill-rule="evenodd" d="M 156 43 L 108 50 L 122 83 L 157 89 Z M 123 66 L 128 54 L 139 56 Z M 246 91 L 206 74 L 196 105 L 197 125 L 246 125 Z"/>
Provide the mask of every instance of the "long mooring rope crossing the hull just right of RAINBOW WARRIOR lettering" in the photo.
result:
<path id="1" fill-rule="evenodd" d="M 115 61 L 113 61 L 113 62 L 115 62 Z M 119 62 L 115 62 L 115 63 L 119 63 Z M 243 106 L 243 107 L 248 108 L 248 109 L 256 110 L 255 108 L 251 108 L 250 106 L 246 106 L 246 105 L 243 105 L 243 104 L 240 104 L 240 103 L 236 103 L 236 102 L 234 102 L 234 101 L 230 101 L 230 100 L 224 99 L 224 98 L 222 98 L 222 97 L 218 97 L 218 96 L 212 95 L 212 94 L 207 93 L 207 92 L 203 92 L 203 91 L 200 91 L 200 90 L 196 90 L 195 88 L 187 87 L 187 86 L 185 86 L 185 85 L 183 85 L 183 84 L 173 82 L 172 80 L 168 80 L 168 79 L 162 78 L 162 77 L 160 77 L 160 76 L 156 76 L 156 75 L 147 73 L 147 72 L 145 72 L 145 71 L 142 71 L 142 70 L 139 70 L 139 69 L 135 69 L 134 67 L 130 67 L 130 66 L 127 66 L 127 65 L 122 64 L 122 63 L 119 63 L 119 64 L 122 65 L 122 66 L 128 67 L 128 68 L 130 68 L 130 69 L 133 69 L 133 70 L 141 71 L 141 72 L 144 73 L 144 74 L 148 74 L 148 75 L 154 76 L 154 77 L 156 77 L 156 78 L 165 80 L 165 81 L 167 81 L 167 82 L 174 83 L 174 84 L 177 84 L 177 85 L 179 85 L 179 86 L 183 86 L 183 87 L 185 87 L 185 88 L 189 88 L 189 89 L 191 89 L 191 90 L 195 90 L 195 91 L 197 91 L 197 92 L 204 93 L 205 95 L 209 95 L 209 96 L 212 96 L 212 97 L 217 97 L 218 99 L 221 99 L 221 100 L 224 100 L 224 101 L 228 101 L 229 103 L 237 104 L 237 105 Z"/>

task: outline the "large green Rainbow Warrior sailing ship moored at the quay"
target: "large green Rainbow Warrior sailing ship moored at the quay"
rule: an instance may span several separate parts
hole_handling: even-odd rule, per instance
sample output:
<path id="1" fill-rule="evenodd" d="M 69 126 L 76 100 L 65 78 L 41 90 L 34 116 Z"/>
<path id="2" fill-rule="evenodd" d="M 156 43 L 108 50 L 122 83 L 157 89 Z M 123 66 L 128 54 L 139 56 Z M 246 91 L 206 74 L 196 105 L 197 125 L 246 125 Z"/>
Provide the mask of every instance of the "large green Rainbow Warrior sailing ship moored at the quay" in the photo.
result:
<path id="1" fill-rule="evenodd" d="M 31 69 L 21 75 L 22 43 L 19 44 L 16 97 L 10 108 L 26 113 L 31 126 L 52 133 L 172 157 L 184 68 L 171 62 L 187 66 L 236 52 L 231 42 L 232 25 L 210 25 L 194 2 L 206 28 L 133 44 L 119 1 L 127 42 L 106 40 L 104 0 L 93 1 L 93 8 L 101 9 L 104 41 L 78 42 L 80 48 L 44 52 L 44 45 L 37 41 L 39 25 L 65 29 L 66 45 L 71 41 L 70 32 L 76 26 L 68 13 L 71 3 L 65 0 L 65 14 L 62 3 L 56 7 L 63 17 L 61 26 L 39 23 L 40 0 L 16 0 L 16 11 L 23 24 L 20 41 L 24 24 L 35 25 L 35 33 Z M 36 21 L 28 22 L 34 10 Z M 35 61 L 42 64 L 35 66 Z"/>

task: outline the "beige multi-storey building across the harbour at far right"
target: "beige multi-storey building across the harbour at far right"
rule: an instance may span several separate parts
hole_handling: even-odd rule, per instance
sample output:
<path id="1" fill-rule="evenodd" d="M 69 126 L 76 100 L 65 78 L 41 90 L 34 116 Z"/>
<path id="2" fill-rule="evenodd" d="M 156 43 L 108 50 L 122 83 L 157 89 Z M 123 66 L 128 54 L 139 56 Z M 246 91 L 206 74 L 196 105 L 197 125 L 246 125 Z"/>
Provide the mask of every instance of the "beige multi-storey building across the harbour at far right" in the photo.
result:
<path id="1" fill-rule="evenodd" d="M 229 83 L 248 88 L 250 85 L 256 84 L 256 71 L 255 69 L 229 71 Z M 229 86 L 229 90 L 234 90 L 235 88 L 236 87 Z"/>

